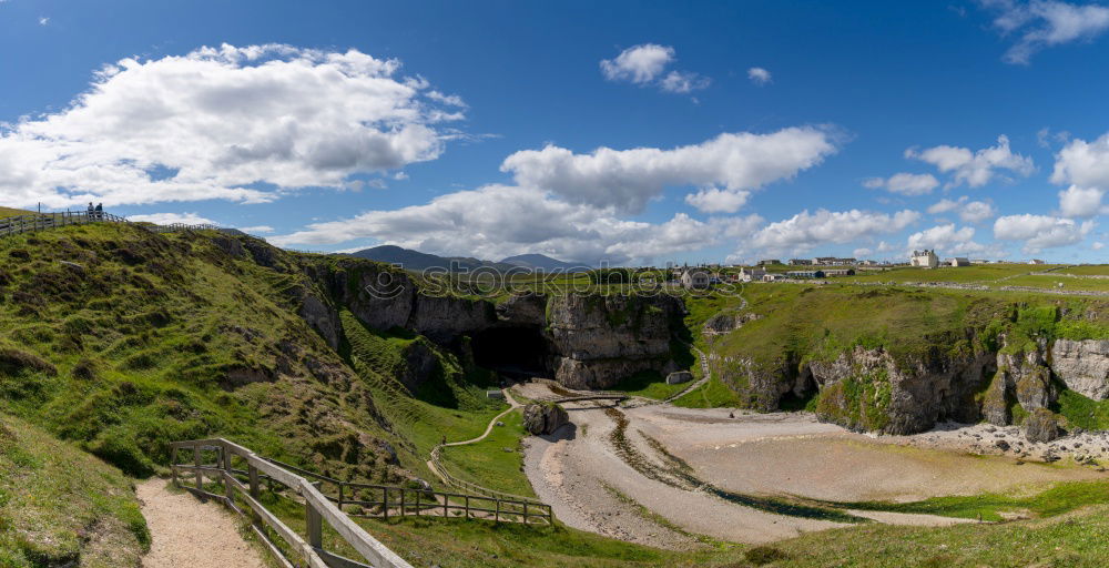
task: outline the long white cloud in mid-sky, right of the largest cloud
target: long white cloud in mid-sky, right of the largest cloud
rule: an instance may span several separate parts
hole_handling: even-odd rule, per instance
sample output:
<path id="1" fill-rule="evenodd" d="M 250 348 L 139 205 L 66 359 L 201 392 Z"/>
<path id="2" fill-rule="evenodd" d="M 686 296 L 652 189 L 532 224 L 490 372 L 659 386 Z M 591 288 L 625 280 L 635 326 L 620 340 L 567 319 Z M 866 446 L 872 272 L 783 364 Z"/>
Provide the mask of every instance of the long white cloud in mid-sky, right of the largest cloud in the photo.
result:
<path id="1" fill-rule="evenodd" d="M 667 186 L 754 190 L 793 178 L 835 151 L 827 131 L 790 128 L 770 134 L 725 133 L 673 150 L 600 148 L 574 154 L 548 145 L 516 152 L 500 169 L 512 172 L 519 185 L 549 190 L 573 203 L 635 213 Z"/>

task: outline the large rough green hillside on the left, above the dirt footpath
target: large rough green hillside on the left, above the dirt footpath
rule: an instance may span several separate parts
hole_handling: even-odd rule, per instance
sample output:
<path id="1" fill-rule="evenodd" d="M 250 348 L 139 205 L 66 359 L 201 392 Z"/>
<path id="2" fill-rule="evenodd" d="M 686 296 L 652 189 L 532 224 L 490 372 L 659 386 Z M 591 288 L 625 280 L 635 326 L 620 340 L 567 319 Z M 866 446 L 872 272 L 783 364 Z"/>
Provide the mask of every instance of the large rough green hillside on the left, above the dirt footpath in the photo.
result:
<path id="1" fill-rule="evenodd" d="M 169 463 L 167 442 L 225 436 L 390 483 L 419 473 L 439 432 L 480 430 L 496 410 L 468 406 L 472 393 L 455 407 L 406 396 L 423 414 L 404 418 L 383 397 L 395 369 L 374 368 L 403 342 L 339 354 L 296 314 L 304 265 L 327 258 L 230 239 L 87 225 L 0 240 L 0 408 L 136 476 Z"/>

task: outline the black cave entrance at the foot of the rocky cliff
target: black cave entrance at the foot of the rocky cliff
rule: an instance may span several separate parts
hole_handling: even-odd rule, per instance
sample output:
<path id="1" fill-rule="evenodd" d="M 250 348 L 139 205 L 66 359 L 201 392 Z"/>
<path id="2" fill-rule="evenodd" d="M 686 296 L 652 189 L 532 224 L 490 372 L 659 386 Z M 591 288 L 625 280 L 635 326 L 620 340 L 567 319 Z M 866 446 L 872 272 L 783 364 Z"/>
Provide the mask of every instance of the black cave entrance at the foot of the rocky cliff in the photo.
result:
<path id="1" fill-rule="evenodd" d="M 547 376 L 547 339 L 538 327 L 495 327 L 470 339 L 478 366 L 512 377 Z"/>

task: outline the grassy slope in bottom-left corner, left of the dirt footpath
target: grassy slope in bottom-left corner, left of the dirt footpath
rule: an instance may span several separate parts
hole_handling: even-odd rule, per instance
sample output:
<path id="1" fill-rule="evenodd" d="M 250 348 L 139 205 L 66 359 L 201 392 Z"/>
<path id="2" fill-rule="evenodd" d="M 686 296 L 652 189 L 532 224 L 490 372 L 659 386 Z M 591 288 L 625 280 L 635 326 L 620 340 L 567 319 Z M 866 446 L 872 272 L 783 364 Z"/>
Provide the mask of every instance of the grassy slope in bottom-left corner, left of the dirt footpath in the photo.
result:
<path id="1" fill-rule="evenodd" d="M 0 414 L 0 566 L 138 567 L 149 548 L 118 469 Z"/>

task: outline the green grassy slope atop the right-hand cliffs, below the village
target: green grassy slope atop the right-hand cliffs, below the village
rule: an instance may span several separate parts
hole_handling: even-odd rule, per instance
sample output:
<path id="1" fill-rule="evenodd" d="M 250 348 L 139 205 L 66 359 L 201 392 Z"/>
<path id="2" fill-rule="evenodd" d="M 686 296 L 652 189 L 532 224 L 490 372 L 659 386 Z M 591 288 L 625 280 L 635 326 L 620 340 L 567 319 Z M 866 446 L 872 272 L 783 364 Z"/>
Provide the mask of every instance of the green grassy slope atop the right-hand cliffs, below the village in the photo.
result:
<path id="1" fill-rule="evenodd" d="M 913 362 L 997 351 L 1001 337 L 1009 351 L 1027 347 L 1035 339 L 1109 337 L 1109 301 L 1100 298 L 842 283 L 753 284 L 744 288 L 743 296 L 750 302 L 746 311 L 759 318 L 723 336 L 700 337 L 702 348 L 730 357 L 731 365 L 750 362 L 750 368 L 783 381 L 808 361 L 834 361 L 855 346 L 881 347 L 895 361 Z M 694 329 L 712 314 L 739 305 L 734 297 L 713 296 L 690 297 L 686 303 L 686 323 Z M 728 372 L 728 365 L 723 367 L 729 377 L 714 376 L 678 404 L 754 408 L 777 404 L 760 398 L 751 385 L 736 378 L 737 374 Z M 784 406 L 804 403 L 781 402 Z M 1086 427 L 1109 428 L 1109 422 L 1100 418 L 1109 409 L 1107 403 L 1066 393 L 1057 409 Z"/>

